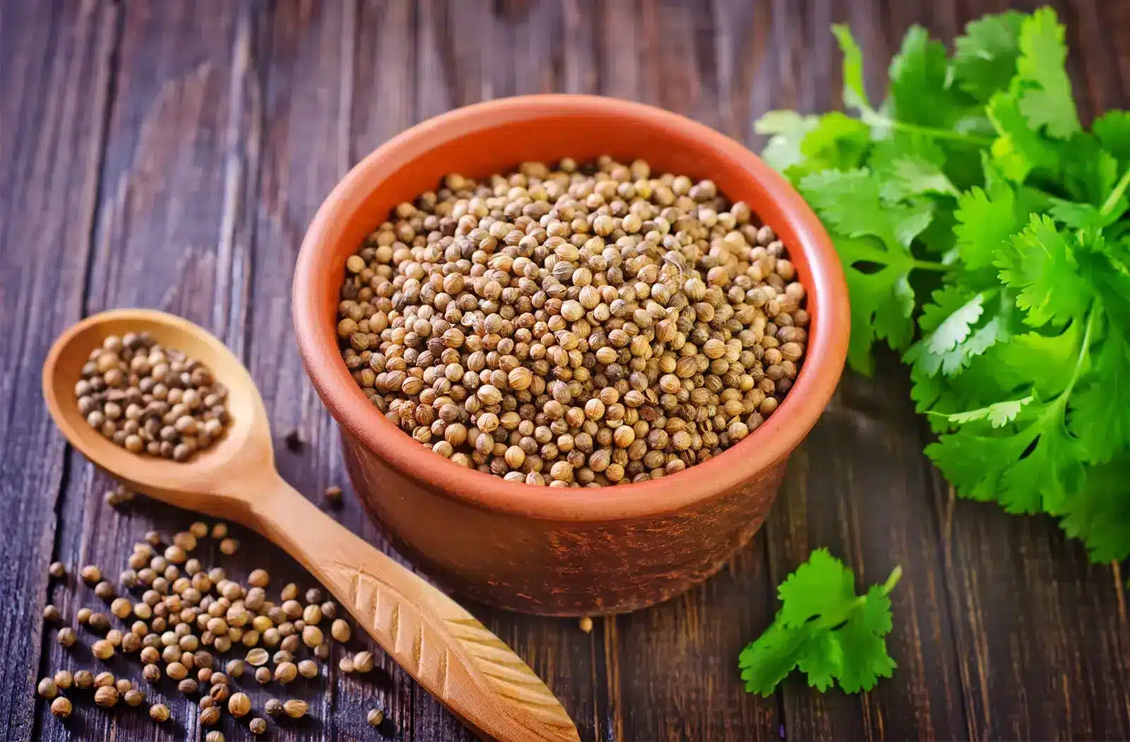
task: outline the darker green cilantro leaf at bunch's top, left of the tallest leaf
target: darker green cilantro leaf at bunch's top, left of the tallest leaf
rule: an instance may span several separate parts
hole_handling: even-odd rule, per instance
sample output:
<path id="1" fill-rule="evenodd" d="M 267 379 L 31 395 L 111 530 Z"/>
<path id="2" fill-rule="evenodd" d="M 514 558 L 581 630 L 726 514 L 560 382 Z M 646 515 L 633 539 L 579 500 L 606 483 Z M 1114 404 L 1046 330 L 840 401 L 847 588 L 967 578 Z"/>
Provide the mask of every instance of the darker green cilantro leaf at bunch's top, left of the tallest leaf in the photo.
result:
<path id="1" fill-rule="evenodd" d="M 954 76 L 963 90 L 981 102 L 1008 87 L 1020 53 L 1020 24 L 1016 10 L 983 16 L 965 24 L 965 35 L 954 42 Z"/>

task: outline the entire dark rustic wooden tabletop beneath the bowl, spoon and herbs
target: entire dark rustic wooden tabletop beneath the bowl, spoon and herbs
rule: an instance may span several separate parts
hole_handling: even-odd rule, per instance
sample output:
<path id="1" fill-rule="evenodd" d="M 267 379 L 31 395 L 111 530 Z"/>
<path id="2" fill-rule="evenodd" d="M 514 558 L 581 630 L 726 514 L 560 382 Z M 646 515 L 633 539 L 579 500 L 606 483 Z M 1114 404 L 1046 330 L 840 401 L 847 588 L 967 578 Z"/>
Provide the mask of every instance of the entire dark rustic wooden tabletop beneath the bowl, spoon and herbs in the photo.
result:
<path id="1" fill-rule="evenodd" d="M 350 163 L 453 106 L 548 90 L 660 104 L 756 146 L 759 113 L 837 105 L 831 23 L 852 24 L 878 90 L 910 24 L 949 40 L 1007 5 L 0 1 L 0 736 L 202 736 L 190 704 L 164 685 L 150 696 L 171 701 L 176 723 L 163 727 L 88 704 L 64 725 L 33 698 L 38 675 L 90 664 L 87 649 L 59 647 L 43 605 L 72 616 L 97 603 L 73 580 L 49 585 L 47 564 L 116 572 L 145 530 L 192 519 L 141 500 L 105 506 L 105 476 L 53 430 L 38 368 L 68 323 L 141 305 L 210 328 L 260 385 L 284 475 L 321 502 L 324 486 L 346 482 L 336 430 L 290 339 L 289 278 L 305 225 Z M 1080 110 L 1130 105 L 1130 1 L 1053 5 L 1068 23 Z M 1089 566 L 1050 521 L 955 502 L 921 456 L 905 374 L 889 360 L 880 366 L 875 380 L 845 377 L 770 523 L 705 585 L 597 620 L 591 635 L 574 621 L 471 606 L 547 680 L 582 739 L 1130 739 L 1120 577 Z M 306 441 L 301 451 L 282 445 L 290 429 Z M 381 543 L 348 494 L 332 512 Z M 233 571 L 266 566 L 277 580 L 308 581 L 278 550 L 238 535 Z M 820 545 L 862 580 L 903 566 L 890 638 L 899 667 L 860 696 L 815 693 L 797 679 L 774 698 L 747 696 L 737 654 L 767 624 L 773 586 Z M 470 739 L 383 662 L 364 679 L 330 663 L 327 676 L 293 685 L 315 718 L 272 725 L 269 739 Z M 140 667 L 112 670 L 138 679 Z M 253 698 L 261 707 L 267 693 Z M 364 722 L 374 702 L 393 722 L 381 733 Z M 250 739 L 225 725 L 229 740 Z"/>

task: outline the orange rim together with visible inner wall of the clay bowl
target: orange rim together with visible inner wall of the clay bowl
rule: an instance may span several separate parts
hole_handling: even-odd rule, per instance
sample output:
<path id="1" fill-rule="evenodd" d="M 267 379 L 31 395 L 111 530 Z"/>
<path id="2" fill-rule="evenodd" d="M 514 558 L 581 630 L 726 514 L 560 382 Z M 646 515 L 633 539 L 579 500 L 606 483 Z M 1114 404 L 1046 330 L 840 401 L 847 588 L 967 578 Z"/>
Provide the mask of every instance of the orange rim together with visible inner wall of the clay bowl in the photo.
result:
<path id="1" fill-rule="evenodd" d="M 672 172 L 710 178 L 730 200 L 749 204 L 784 241 L 807 291 L 811 323 L 806 361 L 793 388 L 766 423 L 740 443 L 687 472 L 645 483 L 586 489 L 571 497 L 573 502 L 588 499 L 589 504 L 607 506 L 598 508 L 606 515 L 623 516 L 638 511 L 632 504 L 635 498 L 637 506 L 653 511 L 664 502 L 702 497 L 704 488 L 720 491 L 737 484 L 800 442 L 831 397 L 846 354 L 846 287 L 827 234 L 791 186 L 740 144 L 659 109 L 593 96 L 510 98 L 432 119 L 366 157 L 330 195 L 299 254 L 294 305 L 307 371 L 341 424 L 397 468 L 454 490 L 457 497 L 528 515 L 545 512 L 528 499 L 530 493 L 540 493 L 540 500 L 548 500 L 542 488 L 505 482 L 442 459 L 368 403 L 337 351 L 338 291 L 346 258 L 389 218 L 390 209 L 434 190 L 445 174 L 483 178 L 523 161 L 554 163 L 570 156 L 581 162 L 605 154 L 621 162 L 645 159 L 653 175 Z M 468 494 L 468 490 L 473 492 Z M 618 506 L 605 502 L 610 498 Z"/>

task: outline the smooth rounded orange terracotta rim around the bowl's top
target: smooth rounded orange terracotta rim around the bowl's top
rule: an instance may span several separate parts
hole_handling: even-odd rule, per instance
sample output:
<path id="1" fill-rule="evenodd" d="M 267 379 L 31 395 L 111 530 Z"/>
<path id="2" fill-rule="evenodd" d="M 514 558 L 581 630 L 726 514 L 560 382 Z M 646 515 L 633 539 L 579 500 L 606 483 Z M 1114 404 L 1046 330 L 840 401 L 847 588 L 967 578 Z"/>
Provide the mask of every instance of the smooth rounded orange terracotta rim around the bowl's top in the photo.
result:
<path id="1" fill-rule="evenodd" d="M 333 322 L 325 318 L 314 288 L 327 270 L 341 270 L 328 249 L 333 223 L 360 206 L 382 179 L 382 172 L 402 166 L 436 143 L 472 131 L 528 119 L 586 113 L 676 128 L 683 137 L 705 145 L 719 159 L 732 161 L 759 182 L 799 238 L 799 244 L 789 248 L 802 251 L 809 266 L 806 287 L 812 322 L 796 383 L 777 411 L 741 442 L 659 480 L 555 491 L 461 467 L 393 425 L 349 376 L 338 351 Z M 596 95 L 522 95 L 477 103 L 423 121 L 381 145 L 341 179 L 318 209 L 298 252 L 292 305 L 306 373 L 344 432 L 401 475 L 432 491 L 481 509 L 538 519 L 654 517 L 730 491 L 783 460 L 800 443 L 831 399 L 847 354 L 849 304 L 843 270 L 827 232 L 792 186 L 744 145 L 702 123 L 642 103 Z"/>

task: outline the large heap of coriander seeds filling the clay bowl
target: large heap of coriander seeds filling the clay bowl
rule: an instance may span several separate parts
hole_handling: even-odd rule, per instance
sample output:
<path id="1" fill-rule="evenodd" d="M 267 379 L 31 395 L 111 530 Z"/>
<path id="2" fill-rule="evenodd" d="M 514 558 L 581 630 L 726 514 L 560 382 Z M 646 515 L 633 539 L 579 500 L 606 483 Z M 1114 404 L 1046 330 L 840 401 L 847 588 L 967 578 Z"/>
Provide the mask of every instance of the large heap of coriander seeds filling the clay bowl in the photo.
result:
<path id="1" fill-rule="evenodd" d="M 808 340 L 773 230 L 642 161 L 447 175 L 345 268 L 338 338 L 370 400 L 441 456 L 529 484 L 718 456 L 777 408 Z"/>

